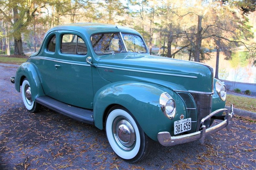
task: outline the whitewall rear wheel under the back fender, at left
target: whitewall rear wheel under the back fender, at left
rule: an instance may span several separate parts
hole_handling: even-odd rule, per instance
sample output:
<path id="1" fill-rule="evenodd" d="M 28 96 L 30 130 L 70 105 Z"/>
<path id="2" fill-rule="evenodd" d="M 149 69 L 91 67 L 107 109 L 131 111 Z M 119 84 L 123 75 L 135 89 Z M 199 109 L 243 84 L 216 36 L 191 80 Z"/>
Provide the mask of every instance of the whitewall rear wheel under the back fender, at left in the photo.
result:
<path id="1" fill-rule="evenodd" d="M 37 112 L 41 105 L 32 100 L 29 81 L 25 78 L 21 85 L 22 99 L 29 112 Z"/>

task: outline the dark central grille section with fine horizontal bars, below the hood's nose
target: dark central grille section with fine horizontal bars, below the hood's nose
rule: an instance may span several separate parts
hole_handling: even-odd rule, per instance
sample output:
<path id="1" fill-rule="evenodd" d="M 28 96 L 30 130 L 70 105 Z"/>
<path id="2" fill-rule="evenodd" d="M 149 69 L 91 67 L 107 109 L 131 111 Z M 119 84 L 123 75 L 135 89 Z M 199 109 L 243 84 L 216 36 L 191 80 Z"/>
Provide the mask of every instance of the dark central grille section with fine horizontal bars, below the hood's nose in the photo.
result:
<path id="1" fill-rule="evenodd" d="M 197 109 L 197 127 L 196 131 L 199 131 L 201 120 L 209 115 L 212 110 L 212 95 L 211 94 L 203 94 L 203 93 L 194 93 L 190 92 L 192 95 Z M 206 128 L 209 127 L 210 120 L 205 120 L 204 125 Z"/>

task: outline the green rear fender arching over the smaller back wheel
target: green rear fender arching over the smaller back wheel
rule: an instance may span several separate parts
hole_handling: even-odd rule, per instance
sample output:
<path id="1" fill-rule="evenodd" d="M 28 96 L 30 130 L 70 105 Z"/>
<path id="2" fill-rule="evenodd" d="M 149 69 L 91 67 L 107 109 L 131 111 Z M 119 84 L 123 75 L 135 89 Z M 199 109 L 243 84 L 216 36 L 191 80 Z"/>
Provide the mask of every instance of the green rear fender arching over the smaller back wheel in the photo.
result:
<path id="1" fill-rule="evenodd" d="M 37 97 L 44 95 L 41 81 L 33 63 L 25 62 L 18 67 L 15 75 L 15 89 L 18 92 L 20 92 L 20 86 L 22 85 L 24 77 L 29 81 L 33 101 L 35 101 Z"/>

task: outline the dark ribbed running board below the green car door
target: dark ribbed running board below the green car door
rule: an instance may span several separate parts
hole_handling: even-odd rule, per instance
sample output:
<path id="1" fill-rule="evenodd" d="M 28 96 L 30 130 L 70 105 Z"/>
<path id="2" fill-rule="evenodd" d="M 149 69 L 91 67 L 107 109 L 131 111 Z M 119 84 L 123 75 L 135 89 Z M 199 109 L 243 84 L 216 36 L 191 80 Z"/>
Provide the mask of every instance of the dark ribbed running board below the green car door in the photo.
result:
<path id="1" fill-rule="evenodd" d="M 61 101 L 57 101 L 48 96 L 40 96 L 36 98 L 36 102 L 48 107 L 49 109 L 64 114 L 68 117 L 76 119 L 80 122 L 94 125 L 93 111 L 71 106 Z"/>

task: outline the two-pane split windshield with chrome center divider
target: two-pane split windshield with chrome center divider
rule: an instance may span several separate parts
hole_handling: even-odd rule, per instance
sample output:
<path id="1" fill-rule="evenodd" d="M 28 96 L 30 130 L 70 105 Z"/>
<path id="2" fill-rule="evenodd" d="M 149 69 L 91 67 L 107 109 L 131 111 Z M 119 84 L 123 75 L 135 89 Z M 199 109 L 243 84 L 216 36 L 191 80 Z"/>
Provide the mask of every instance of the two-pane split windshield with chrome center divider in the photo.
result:
<path id="1" fill-rule="evenodd" d="M 121 37 L 122 35 L 122 37 Z M 123 38 L 123 41 L 122 41 Z M 147 52 L 140 36 L 127 33 L 104 33 L 91 36 L 93 50 L 97 54 L 114 54 L 122 52 Z M 125 49 L 126 46 L 126 49 Z"/>

